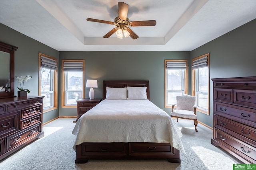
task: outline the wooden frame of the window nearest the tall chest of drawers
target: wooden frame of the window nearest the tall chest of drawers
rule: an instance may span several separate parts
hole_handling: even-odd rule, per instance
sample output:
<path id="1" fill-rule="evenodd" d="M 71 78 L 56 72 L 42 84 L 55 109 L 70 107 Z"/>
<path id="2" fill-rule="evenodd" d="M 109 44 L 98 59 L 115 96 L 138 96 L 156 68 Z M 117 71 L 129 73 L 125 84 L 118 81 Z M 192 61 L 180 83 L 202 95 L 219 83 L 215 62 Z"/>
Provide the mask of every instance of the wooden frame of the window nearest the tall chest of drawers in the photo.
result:
<path id="1" fill-rule="evenodd" d="M 199 57 L 196 57 L 194 59 L 192 59 L 192 63 L 194 60 L 197 60 L 197 59 L 200 59 L 200 58 L 203 58 L 203 57 L 206 57 L 207 56 L 207 67 L 208 67 L 208 95 L 207 95 L 207 100 L 208 100 L 208 108 L 205 109 L 203 107 L 200 107 L 200 106 L 197 106 L 197 95 L 198 94 L 196 92 L 196 70 L 198 69 L 192 69 L 192 95 L 193 96 L 196 96 L 196 111 L 199 111 L 201 113 L 204 113 L 206 115 L 210 115 L 210 53 L 206 53 L 204 55 L 201 55 Z"/>

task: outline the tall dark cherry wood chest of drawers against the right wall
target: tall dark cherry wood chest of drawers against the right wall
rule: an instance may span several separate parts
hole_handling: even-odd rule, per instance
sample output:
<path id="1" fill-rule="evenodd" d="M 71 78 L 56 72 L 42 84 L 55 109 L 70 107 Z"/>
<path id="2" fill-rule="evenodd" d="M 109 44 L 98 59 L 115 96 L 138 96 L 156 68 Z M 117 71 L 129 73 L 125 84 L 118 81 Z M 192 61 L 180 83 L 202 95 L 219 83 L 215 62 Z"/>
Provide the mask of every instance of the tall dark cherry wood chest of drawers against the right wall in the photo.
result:
<path id="1" fill-rule="evenodd" d="M 212 81 L 212 145 L 246 164 L 256 164 L 256 76 Z"/>

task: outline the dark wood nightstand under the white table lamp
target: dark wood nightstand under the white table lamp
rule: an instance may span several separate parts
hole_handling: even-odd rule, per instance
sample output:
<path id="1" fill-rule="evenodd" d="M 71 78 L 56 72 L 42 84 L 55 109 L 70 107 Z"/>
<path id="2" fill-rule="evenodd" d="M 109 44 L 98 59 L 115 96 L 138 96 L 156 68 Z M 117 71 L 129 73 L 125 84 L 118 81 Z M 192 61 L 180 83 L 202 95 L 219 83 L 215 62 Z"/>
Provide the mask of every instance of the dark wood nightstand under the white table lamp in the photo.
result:
<path id="1" fill-rule="evenodd" d="M 81 117 L 86 111 L 90 110 L 92 107 L 96 106 L 102 101 L 102 99 L 79 99 L 77 102 L 77 119 L 73 122 L 76 122 L 79 117 Z"/>

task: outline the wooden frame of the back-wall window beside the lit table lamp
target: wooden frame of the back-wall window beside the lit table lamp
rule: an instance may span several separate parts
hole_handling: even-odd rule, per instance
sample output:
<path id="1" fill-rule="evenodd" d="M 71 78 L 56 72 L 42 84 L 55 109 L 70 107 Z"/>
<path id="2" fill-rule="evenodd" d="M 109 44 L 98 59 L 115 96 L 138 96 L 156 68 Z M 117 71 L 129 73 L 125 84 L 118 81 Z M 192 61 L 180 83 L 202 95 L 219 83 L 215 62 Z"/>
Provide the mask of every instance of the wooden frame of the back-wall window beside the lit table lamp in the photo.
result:
<path id="1" fill-rule="evenodd" d="M 64 69 L 63 69 L 63 66 L 64 66 L 64 62 L 82 62 L 83 63 L 83 74 L 82 74 L 82 98 L 84 98 L 84 94 L 85 94 L 85 61 L 84 60 L 62 60 L 62 66 L 61 66 L 61 69 L 62 69 L 62 98 L 61 98 L 61 105 L 62 105 L 62 108 L 77 108 L 77 105 L 69 105 L 69 106 L 66 106 L 66 92 L 65 92 L 65 86 L 66 86 L 66 75 L 64 73 Z M 72 90 L 71 90 L 72 91 Z"/>

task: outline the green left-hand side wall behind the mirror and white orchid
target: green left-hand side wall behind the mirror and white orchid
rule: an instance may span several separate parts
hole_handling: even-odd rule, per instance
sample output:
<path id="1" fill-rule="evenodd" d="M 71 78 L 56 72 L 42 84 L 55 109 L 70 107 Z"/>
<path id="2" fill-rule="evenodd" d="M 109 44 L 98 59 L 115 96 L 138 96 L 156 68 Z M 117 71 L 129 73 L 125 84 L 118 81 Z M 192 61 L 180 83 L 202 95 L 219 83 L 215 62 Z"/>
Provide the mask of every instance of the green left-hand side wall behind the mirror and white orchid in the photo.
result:
<path id="1" fill-rule="evenodd" d="M 0 23 L 0 41 L 18 47 L 15 51 L 14 76 L 31 75 L 32 78 L 24 83 L 24 88 L 29 89 L 28 95 L 37 96 L 39 85 L 39 53 L 50 55 L 59 59 L 59 52 L 52 49 L 6 25 Z M 14 87 L 20 87 L 15 79 Z M 17 95 L 18 88 L 14 88 Z M 43 114 L 43 123 L 58 117 L 58 109 Z"/>

